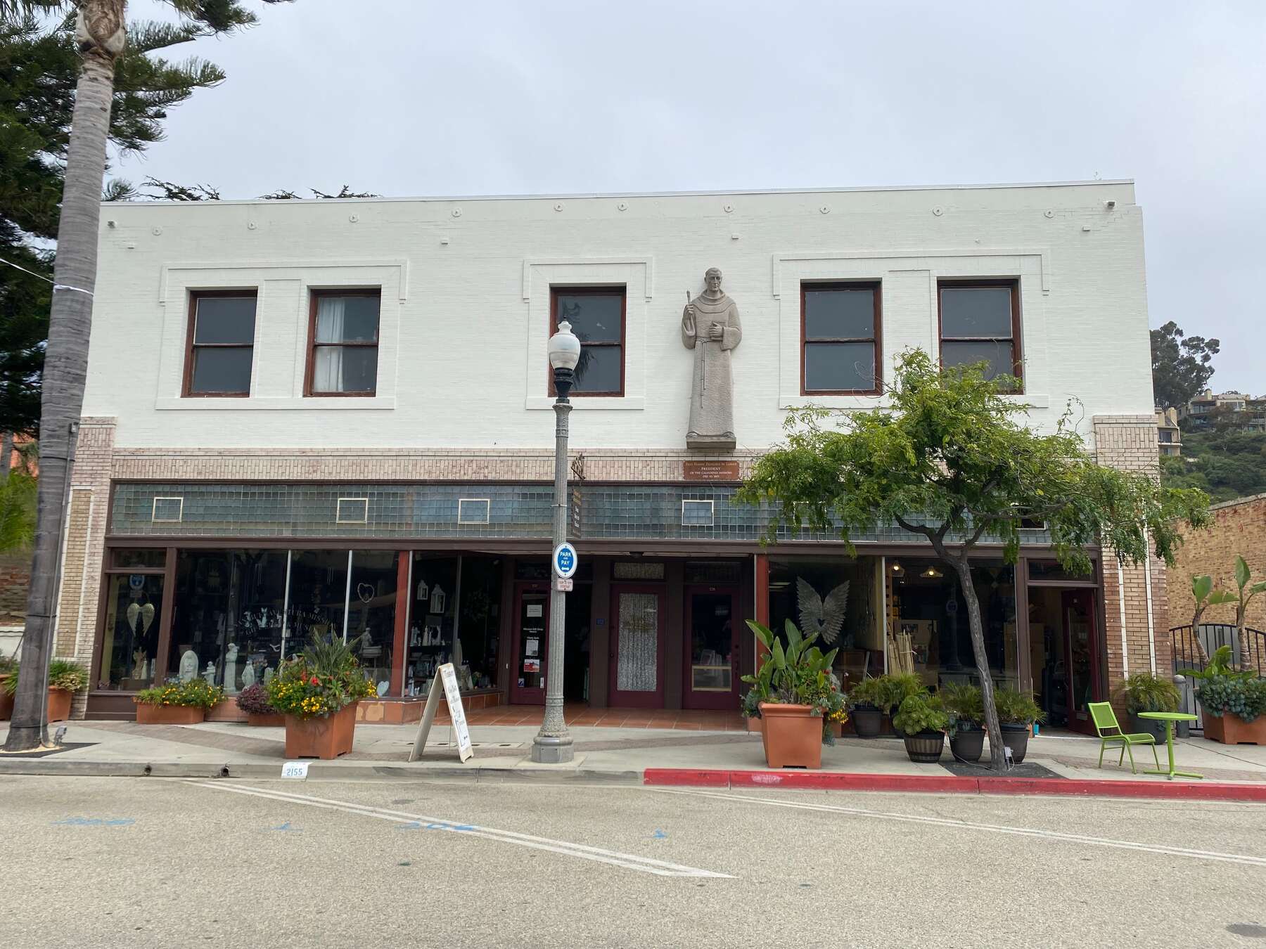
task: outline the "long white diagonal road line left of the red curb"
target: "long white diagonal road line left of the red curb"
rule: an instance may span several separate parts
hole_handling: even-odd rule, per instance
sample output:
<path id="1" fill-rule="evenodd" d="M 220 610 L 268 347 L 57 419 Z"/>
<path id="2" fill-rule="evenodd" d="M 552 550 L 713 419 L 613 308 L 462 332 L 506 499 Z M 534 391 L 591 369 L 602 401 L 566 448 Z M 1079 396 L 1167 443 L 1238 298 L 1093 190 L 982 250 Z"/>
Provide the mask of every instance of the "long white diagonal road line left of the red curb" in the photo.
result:
<path id="1" fill-rule="evenodd" d="M 408 814 L 405 811 L 391 811 L 384 807 L 370 807 L 367 805 L 352 803 L 349 801 L 330 801 L 323 797 L 310 797 L 308 795 L 295 795 L 286 791 L 272 791 L 256 787 L 243 787 L 241 785 L 229 785 L 223 781 L 206 782 L 206 781 L 190 781 L 190 785 L 197 785 L 199 787 L 209 787 L 214 791 L 230 791 L 238 795 L 249 795 L 252 797 L 266 797 L 272 801 L 284 801 L 286 803 L 298 803 L 308 807 L 320 807 L 324 810 L 343 811 L 344 814 L 356 814 L 362 817 L 376 817 L 379 820 L 389 820 L 394 824 L 408 824 L 417 821 L 427 826 L 428 830 L 443 830 L 449 833 L 460 833 L 467 836 L 477 836 L 485 840 L 496 840 L 503 844 L 517 844 L 518 847 L 530 847 L 536 850 L 548 850 L 551 853 L 562 854 L 563 857 L 579 857 L 585 860 L 596 860 L 599 863 L 609 863 L 613 867 L 623 867 L 624 869 L 638 871 L 641 873 L 653 873 L 660 877 L 711 877 L 718 879 L 733 879 L 728 873 L 714 873 L 713 871 L 699 869 L 698 867 L 685 867 L 680 863 L 668 863 L 667 860 L 656 860 L 649 857 L 638 857 L 637 854 L 620 853 L 619 850 L 604 850 L 599 847 L 589 847 L 586 844 L 573 844 L 566 840 L 552 840 L 543 836 L 533 836 L 532 834 L 519 834 L 514 830 L 499 830 L 496 828 L 482 828 L 473 824 L 463 824 L 462 821 L 447 820 L 444 817 L 428 817 L 423 814 Z"/>

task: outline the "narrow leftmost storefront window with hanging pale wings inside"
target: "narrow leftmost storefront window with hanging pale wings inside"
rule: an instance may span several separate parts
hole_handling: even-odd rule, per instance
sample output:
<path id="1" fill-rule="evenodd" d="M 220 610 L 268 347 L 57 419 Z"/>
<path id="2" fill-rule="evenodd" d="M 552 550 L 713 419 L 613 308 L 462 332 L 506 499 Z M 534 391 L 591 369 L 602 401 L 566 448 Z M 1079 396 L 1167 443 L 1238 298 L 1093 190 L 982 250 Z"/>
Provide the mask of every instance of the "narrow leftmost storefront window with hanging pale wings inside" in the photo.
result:
<path id="1" fill-rule="evenodd" d="M 160 673 L 163 574 L 111 573 L 106 577 L 105 597 L 97 688 L 125 692 L 148 688 Z"/>

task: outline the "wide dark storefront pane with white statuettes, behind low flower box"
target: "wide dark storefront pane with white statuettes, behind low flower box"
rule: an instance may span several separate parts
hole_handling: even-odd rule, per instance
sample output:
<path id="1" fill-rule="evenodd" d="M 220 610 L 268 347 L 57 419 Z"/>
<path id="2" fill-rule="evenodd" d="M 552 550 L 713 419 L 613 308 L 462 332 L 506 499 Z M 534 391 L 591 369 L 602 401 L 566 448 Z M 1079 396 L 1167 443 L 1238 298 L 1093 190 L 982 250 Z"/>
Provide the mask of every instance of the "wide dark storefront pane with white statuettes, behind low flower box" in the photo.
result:
<path id="1" fill-rule="evenodd" d="M 281 659 L 286 550 L 181 550 L 176 555 L 168 678 L 195 676 L 235 695 Z"/>

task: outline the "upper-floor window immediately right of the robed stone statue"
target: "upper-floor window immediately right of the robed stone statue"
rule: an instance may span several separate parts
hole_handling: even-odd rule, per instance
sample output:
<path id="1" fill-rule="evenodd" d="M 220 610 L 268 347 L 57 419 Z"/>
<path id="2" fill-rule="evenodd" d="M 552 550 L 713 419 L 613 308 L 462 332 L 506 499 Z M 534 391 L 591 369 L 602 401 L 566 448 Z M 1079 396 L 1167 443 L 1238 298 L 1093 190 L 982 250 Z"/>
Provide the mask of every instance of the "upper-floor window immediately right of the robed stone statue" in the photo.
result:
<path id="1" fill-rule="evenodd" d="M 800 285 L 801 395 L 882 388 L 879 283 Z"/>

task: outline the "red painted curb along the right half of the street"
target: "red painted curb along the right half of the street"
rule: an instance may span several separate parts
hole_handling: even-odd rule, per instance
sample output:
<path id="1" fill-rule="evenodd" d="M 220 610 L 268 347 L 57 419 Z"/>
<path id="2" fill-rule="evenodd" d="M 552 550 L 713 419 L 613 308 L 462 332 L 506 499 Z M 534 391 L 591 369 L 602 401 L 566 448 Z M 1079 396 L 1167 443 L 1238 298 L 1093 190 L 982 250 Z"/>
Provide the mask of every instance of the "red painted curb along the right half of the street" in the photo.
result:
<path id="1" fill-rule="evenodd" d="M 972 778 L 956 774 L 856 774 L 822 771 L 647 768 L 642 781 L 668 787 L 780 787 L 809 791 L 912 791 L 1053 797 L 1153 797 L 1188 801 L 1266 801 L 1266 785 L 1084 778 Z"/>

